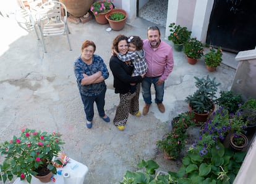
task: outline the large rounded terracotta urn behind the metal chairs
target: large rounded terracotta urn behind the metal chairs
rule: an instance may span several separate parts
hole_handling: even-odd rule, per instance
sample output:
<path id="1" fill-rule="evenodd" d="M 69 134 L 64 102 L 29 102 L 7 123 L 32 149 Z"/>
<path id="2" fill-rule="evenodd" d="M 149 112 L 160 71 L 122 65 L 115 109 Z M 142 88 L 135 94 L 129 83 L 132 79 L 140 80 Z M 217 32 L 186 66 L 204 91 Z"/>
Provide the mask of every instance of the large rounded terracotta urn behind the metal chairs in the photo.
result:
<path id="1" fill-rule="evenodd" d="M 93 0 L 59 0 L 67 7 L 67 12 L 75 17 L 82 17 L 90 10 Z"/>

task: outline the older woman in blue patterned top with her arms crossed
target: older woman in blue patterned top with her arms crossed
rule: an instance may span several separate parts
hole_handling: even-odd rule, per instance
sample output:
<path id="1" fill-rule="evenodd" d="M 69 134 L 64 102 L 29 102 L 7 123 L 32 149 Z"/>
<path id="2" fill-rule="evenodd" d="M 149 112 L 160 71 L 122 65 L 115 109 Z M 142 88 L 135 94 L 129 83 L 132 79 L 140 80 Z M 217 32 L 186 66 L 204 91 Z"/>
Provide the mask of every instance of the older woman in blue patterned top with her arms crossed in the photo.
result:
<path id="1" fill-rule="evenodd" d="M 109 73 L 103 59 L 95 55 L 95 43 L 93 41 L 85 41 L 82 44 L 81 52 L 74 63 L 75 78 L 77 78 L 77 86 L 83 102 L 87 118 L 87 128 L 92 128 L 93 122 L 93 104 L 96 102 L 100 117 L 109 122 L 109 117 L 105 114 L 105 94 L 106 84 L 105 79 Z"/>

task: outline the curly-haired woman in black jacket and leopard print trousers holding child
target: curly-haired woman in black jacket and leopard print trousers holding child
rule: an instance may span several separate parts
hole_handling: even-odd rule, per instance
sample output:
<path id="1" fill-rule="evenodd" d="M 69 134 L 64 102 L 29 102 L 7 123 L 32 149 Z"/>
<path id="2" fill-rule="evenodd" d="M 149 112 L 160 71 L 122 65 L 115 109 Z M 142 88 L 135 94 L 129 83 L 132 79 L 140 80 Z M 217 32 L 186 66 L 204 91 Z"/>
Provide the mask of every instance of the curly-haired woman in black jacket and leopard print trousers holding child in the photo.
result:
<path id="1" fill-rule="evenodd" d="M 119 34 L 113 41 L 112 49 L 126 54 L 128 51 L 127 36 Z M 120 102 L 116 108 L 116 115 L 114 116 L 114 125 L 119 130 L 124 130 L 129 113 L 134 116 L 140 116 L 139 111 L 139 94 L 140 82 L 145 74 L 141 76 L 132 76 L 134 66 L 131 62 L 122 62 L 117 55 L 113 53 L 109 60 L 109 66 L 114 76 L 114 92 L 119 94 Z M 131 100 L 127 97 L 130 92 L 130 83 L 137 83 L 136 95 Z"/>

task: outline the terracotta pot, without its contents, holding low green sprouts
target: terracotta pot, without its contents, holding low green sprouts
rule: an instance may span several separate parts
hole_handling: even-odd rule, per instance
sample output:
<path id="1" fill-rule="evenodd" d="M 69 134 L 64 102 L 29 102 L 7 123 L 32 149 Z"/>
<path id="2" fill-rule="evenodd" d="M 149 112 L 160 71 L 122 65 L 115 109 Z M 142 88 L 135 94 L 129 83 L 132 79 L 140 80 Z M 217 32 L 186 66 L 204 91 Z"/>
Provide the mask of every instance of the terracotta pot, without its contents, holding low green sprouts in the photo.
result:
<path id="1" fill-rule="evenodd" d="M 114 13 L 121 13 L 124 14 L 125 17 L 122 20 L 111 20 L 109 17 L 114 14 Z M 109 25 L 111 26 L 112 30 L 114 31 L 120 31 L 124 28 L 124 25 L 126 24 L 126 18 L 127 18 L 127 13 L 123 9 L 113 9 L 109 14 L 105 15 L 106 20 L 108 20 Z"/>

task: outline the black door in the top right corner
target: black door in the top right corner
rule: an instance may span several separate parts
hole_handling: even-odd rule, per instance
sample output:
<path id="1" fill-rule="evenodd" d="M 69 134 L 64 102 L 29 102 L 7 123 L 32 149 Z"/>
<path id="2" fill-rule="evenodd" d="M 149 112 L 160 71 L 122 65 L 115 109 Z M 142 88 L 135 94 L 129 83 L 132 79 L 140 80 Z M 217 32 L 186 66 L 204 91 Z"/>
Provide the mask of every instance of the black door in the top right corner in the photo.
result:
<path id="1" fill-rule="evenodd" d="M 215 0 L 207 44 L 239 52 L 256 46 L 256 1 Z"/>

